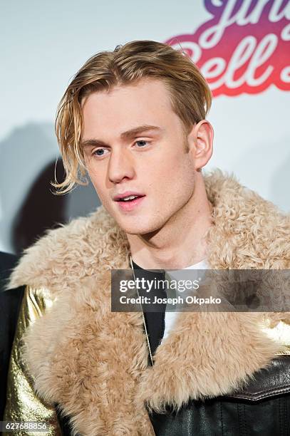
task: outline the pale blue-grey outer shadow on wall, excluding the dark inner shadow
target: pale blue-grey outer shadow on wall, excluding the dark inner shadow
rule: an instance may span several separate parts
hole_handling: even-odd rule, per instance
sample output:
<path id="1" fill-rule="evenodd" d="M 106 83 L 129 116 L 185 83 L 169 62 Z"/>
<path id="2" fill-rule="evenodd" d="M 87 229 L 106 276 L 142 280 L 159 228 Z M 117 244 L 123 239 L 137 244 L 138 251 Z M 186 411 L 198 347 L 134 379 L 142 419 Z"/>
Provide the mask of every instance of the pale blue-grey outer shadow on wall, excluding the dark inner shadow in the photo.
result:
<path id="1" fill-rule="evenodd" d="M 58 145 L 53 123 L 17 126 L 0 142 L 0 244 L 13 251 L 11 224 L 33 180 L 56 160 Z"/>

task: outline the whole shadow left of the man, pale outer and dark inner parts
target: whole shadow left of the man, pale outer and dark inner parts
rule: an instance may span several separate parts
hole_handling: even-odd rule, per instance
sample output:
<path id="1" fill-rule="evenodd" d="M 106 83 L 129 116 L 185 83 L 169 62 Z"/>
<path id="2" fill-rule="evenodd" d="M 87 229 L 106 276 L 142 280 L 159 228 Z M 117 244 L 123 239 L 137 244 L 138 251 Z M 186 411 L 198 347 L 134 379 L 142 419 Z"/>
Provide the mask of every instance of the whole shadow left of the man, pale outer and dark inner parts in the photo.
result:
<path id="1" fill-rule="evenodd" d="M 93 211 L 99 204 L 93 186 L 53 194 L 58 145 L 53 123 L 27 123 L 0 142 L 0 246 L 19 253 L 46 229 Z M 58 160 L 58 181 L 63 165 Z"/>

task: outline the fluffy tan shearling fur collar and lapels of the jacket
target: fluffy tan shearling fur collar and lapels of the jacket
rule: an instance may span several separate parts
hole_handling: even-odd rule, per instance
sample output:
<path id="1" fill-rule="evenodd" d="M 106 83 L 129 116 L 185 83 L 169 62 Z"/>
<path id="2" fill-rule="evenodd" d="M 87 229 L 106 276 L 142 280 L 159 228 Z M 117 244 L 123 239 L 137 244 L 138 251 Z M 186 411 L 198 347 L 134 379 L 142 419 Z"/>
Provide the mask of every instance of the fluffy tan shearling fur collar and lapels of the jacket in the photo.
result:
<path id="1" fill-rule="evenodd" d="M 289 269 L 290 218 L 219 170 L 205 183 L 214 206 L 209 265 Z M 125 234 L 100 207 L 49 232 L 11 277 L 10 287 L 45 288 L 54 299 L 26 333 L 24 358 L 38 395 L 61 403 L 82 435 L 150 435 L 144 402 L 162 411 L 231 393 L 280 349 L 261 313 L 180 313 L 148 368 L 141 313 L 110 312 L 110 269 L 129 268 L 128 254 Z"/>

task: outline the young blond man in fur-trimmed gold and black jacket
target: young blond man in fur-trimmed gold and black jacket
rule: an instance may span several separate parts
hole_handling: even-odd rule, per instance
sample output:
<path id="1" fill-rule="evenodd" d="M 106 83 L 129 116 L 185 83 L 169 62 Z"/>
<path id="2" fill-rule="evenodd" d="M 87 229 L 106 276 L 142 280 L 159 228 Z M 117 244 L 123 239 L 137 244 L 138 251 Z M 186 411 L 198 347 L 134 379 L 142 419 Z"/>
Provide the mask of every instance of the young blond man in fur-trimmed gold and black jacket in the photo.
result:
<path id="1" fill-rule="evenodd" d="M 154 41 L 98 53 L 73 78 L 58 187 L 88 172 L 103 206 L 14 271 L 11 286 L 27 286 L 6 420 L 45 421 L 48 435 L 289 434 L 286 314 L 177 313 L 153 344 L 153 316 L 110 311 L 111 269 L 290 267 L 289 217 L 234 177 L 202 174 L 210 103 L 190 58 Z"/>

